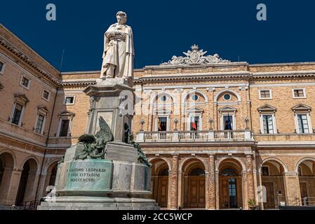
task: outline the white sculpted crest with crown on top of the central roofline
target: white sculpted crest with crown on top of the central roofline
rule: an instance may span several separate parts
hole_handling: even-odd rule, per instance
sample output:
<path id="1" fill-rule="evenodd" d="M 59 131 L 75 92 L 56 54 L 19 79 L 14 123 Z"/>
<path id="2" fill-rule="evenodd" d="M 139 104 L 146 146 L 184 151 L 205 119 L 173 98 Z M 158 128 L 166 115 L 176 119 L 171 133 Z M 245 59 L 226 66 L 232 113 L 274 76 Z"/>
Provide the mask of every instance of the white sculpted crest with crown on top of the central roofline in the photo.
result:
<path id="1" fill-rule="evenodd" d="M 199 46 L 194 44 L 192 45 L 192 50 L 183 52 L 186 57 L 177 57 L 173 56 L 168 62 L 163 63 L 163 66 L 177 66 L 177 65 L 199 65 L 199 64 L 222 64 L 231 62 L 228 60 L 222 59 L 219 55 L 207 55 L 206 51 L 199 50 Z"/>

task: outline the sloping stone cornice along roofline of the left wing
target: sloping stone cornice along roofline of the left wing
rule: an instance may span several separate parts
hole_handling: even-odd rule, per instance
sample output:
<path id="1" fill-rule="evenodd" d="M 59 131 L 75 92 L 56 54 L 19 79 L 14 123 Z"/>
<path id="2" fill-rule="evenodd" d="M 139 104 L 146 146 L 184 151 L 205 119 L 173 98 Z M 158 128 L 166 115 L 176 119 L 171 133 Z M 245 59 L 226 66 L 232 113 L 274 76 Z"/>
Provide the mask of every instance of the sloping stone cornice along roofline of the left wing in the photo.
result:
<path id="1" fill-rule="evenodd" d="M 2 38 L 0 36 L 0 45 L 4 46 L 4 48 L 8 49 L 10 52 L 13 53 L 13 55 L 17 56 L 20 58 L 23 62 L 27 63 L 29 66 L 31 66 L 33 69 L 41 73 L 44 77 L 48 78 L 48 80 L 51 80 L 53 83 L 56 85 L 60 85 L 61 82 L 58 78 L 55 78 L 51 73 L 46 71 L 46 69 L 43 69 L 42 66 L 40 66 L 38 63 L 34 62 L 31 58 L 27 57 L 24 52 L 18 50 L 18 48 L 15 48 L 15 46 L 6 41 L 6 39 Z"/>

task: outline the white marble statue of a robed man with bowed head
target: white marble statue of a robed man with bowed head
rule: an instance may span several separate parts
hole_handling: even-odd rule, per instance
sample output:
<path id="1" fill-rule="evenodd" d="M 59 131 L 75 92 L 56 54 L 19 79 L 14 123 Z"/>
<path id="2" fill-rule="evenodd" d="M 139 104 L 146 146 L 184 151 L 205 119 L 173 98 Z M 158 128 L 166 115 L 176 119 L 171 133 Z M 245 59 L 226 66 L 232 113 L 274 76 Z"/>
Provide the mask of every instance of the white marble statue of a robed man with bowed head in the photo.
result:
<path id="1" fill-rule="evenodd" d="M 119 11 L 117 23 L 105 32 L 100 78 L 133 78 L 133 31 L 126 25 L 127 14 Z"/>

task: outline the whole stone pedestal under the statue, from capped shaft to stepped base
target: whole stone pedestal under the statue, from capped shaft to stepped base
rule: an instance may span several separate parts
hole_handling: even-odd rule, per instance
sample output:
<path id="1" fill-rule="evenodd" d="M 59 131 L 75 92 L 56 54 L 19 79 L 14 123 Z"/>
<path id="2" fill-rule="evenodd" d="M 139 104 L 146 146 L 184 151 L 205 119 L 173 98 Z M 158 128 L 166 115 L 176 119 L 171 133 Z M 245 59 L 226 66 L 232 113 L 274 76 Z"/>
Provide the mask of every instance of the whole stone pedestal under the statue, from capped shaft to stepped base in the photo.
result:
<path id="1" fill-rule="evenodd" d="M 151 168 L 138 162 L 138 151 L 126 140 L 130 129 L 133 88 L 123 79 L 99 80 L 84 90 L 91 97 L 87 133 L 98 132 L 102 116 L 114 135 L 106 146 L 105 158 L 75 160 L 83 144 L 68 148 L 64 162 L 58 165 L 56 196 L 46 197 L 39 210 L 154 210 L 149 199 Z M 128 105 L 128 106 L 127 106 Z M 131 108 L 132 109 L 132 108 Z"/>

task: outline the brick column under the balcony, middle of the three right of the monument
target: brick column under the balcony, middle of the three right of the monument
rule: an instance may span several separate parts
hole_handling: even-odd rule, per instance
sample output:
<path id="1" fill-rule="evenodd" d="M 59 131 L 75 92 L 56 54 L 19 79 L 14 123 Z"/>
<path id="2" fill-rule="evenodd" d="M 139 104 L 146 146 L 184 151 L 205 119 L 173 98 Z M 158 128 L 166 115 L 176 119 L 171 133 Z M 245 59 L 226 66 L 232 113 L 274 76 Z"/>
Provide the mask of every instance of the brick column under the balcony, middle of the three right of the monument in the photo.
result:
<path id="1" fill-rule="evenodd" d="M 208 174 L 206 175 L 207 193 L 206 209 L 216 209 L 216 191 L 215 191 L 215 155 L 209 155 Z M 219 200 L 217 198 L 217 200 Z"/>

